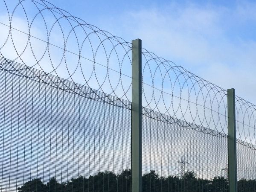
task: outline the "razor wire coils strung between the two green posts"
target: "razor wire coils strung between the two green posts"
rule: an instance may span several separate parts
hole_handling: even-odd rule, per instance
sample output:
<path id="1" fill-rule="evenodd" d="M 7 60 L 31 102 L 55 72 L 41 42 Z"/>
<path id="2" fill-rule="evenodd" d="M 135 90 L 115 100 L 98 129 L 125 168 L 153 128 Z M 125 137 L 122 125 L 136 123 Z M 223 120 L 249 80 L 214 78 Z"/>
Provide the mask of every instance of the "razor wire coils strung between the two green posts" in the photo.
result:
<path id="1" fill-rule="evenodd" d="M 227 135 L 227 91 L 145 49 L 143 107 Z"/>

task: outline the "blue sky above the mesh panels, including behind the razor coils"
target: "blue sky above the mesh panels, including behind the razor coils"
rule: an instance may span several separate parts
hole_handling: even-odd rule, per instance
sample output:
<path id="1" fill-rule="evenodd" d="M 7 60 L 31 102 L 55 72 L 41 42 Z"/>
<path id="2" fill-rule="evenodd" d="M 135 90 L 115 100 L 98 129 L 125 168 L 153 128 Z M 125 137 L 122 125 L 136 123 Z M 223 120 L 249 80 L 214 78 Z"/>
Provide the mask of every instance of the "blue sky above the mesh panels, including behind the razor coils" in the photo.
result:
<path id="1" fill-rule="evenodd" d="M 40 5 L 40 2 L 36 3 L 36 0 L 26 0 L 17 6 L 12 15 L 13 30 L 10 35 L 9 17 L 3 2 L 0 1 L 2 13 L 0 22 L 1 27 L 3 26 L 0 48 L 4 44 L 0 49 L 1 55 L 131 101 L 131 58 L 128 56 L 131 55 L 130 46 L 124 46 L 123 49 L 116 41 L 107 40 L 103 42 L 103 47 L 101 41 L 106 39 L 105 35 L 89 29 L 92 26 L 82 28 L 77 22 L 72 21 L 72 18 L 67 20 L 61 14 L 50 12 Z M 12 14 L 18 1 L 6 2 L 9 13 Z M 125 41 L 131 42 L 140 38 L 143 47 L 148 51 L 173 61 L 177 66 L 182 66 L 224 89 L 235 88 L 236 95 L 256 103 L 254 102 L 256 38 L 253 36 L 253 28 L 256 26 L 254 13 L 256 3 L 250 1 L 74 3 L 69 0 L 52 0 L 50 3 Z M 42 10 L 44 20 L 38 14 L 36 6 Z M 48 3 L 48 6 L 51 5 Z M 56 22 L 56 18 L 59 18 L 60 25 Z M 93 29 L 98 30 L 96 27 Z M 29 39 L 28 34 L 31 35 Z M 47 44 L 47 35 L 50 44 Z M 117 44 L 114 51 L 113 44 Z M 80 54 L 81 58 L 79 58 Z M 17 55 L 20 55 L 22 61 L 16 59 Z M 145 60 L 143 62 L 143 67 L 145 66 L 143 107 L 204 127 L 219 127 L 217 131 L 227 133 L 225 119 L 227 99 L 223 91 L 209 90 L 207 86 L 201 89 L 201 84 L 197 82 L 198 78 L 190 78 L 188 83 L 187 77 L 180 72 L 177 81 L 175 70 L 166 70 L 163 64 L 158 67 L 154 60 L 149 62 L 150 67 L 145 64 Z M 179 67 L 177 69 L 183 71 Z M 156 73 L 152 79 L 154 71 Z M 239 112 L 237 120 L 240 121 L 239 127 L 246 126 L 241 130 L 250 129 L 250 131 L 239 133 L 239 139 L 249 138 L 248 132 L 254 133 L 255 129 L 255 118 L 251 117 L 256 113 L 256 107 L 255 105 L 248 107 L 250 104 L 244 105 L 243 102 L 236 105 Z M 246 116 L 245 112 L 247 112 Z M 251 135 L 255 139 L 254 134 Z"/>

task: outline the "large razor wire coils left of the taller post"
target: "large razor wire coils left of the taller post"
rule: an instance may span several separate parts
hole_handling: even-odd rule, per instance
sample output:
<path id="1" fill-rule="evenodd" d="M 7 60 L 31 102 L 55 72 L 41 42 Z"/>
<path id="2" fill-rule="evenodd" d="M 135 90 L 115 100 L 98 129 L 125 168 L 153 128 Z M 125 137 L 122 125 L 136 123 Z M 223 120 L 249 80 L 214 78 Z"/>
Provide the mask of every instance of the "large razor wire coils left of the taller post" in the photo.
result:
<path id="1" fill-rule="evenodd" d="M 1 57 L 131 100 L 130 43 L 44 0 L 0 7 Z"/>

